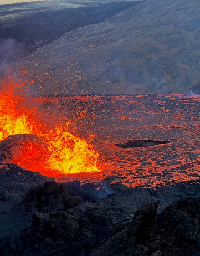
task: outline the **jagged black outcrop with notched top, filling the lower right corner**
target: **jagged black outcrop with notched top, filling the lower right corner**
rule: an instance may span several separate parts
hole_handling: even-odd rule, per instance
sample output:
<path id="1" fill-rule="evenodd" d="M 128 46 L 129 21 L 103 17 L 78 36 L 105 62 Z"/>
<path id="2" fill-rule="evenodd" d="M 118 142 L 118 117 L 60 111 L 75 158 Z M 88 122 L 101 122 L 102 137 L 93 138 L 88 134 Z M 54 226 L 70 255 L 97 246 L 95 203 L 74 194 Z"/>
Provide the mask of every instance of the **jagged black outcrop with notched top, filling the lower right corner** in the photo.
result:
<path id="1" fill-rule="evenodd" d="M 199 202 L 199 197 L 183 198 L 158 216 L 158 204 L 149 204 L 135 213 L 127 227 L 90 255 L 199 255 Z"/>

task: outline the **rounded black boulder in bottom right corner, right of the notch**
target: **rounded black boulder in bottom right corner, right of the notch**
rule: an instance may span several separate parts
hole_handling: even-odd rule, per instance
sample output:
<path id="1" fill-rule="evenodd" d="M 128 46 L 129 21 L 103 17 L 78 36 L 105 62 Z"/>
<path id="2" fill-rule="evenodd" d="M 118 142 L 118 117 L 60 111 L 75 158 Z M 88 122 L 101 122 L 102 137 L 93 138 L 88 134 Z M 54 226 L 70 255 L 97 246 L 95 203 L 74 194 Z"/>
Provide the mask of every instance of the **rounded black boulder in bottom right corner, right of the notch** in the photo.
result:
<path id="1" fill-rule="evenodd" d="M 148 236 L 152 251 L 161 250 L 163 255 L 200 253 L 197 247 L 199 201 L 199 197 L 183 198 L 159 214 Z"/>

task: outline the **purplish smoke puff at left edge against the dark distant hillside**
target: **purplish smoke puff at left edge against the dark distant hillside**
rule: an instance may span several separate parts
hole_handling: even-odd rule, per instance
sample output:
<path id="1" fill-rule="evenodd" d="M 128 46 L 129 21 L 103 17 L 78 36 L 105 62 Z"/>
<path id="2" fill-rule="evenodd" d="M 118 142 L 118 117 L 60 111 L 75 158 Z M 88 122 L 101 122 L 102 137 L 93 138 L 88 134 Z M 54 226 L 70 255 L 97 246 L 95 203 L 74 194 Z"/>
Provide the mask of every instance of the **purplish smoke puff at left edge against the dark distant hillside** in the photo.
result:
<path id="1" fill-rule="evenodd" d="M 0 39 L 0 68 L 22 57 L 24 46 L 24 43 L 19 43 L 13 38 Z"/>

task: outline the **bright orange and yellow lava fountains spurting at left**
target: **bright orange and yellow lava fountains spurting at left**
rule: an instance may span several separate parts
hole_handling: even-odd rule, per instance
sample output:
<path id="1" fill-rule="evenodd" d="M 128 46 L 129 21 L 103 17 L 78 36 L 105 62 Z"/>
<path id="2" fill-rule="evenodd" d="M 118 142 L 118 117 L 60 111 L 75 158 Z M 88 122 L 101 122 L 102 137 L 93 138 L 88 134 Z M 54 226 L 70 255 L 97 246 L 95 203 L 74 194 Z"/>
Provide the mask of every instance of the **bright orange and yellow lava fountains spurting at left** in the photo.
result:
<path id="1" fill-rule="evenodd" d="M 34 81 L 22 83 L 20 80 L 19 83 L 11 80 L 1 83 L 0 141 L 10 135 L 36 135 L 34 140 L 25 141 L 22 149 L 13 156 L 12 163 L 43 174 L 47 174 L 47 170 L 65 174 L 100 171 L 97 166 L 99 155 L 94 147 L 71 134 L 68 124 L 52 130 L 43 124 L 35 106 L 30 105 L 30 97 L 24 96 L 27 85 L 32 84 Z M 50 176 L 54 176 L 52 171 Z"/>

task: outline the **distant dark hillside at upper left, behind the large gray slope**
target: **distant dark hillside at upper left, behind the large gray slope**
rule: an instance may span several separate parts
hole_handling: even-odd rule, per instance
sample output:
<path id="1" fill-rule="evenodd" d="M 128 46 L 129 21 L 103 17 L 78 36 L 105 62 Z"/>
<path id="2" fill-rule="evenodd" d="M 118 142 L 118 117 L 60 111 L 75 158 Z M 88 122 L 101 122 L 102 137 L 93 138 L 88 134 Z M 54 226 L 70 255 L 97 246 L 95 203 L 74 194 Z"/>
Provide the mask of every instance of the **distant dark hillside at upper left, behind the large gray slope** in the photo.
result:
<path id="1" fill-rule="evenodd" d="M 52 0 L 0 5 L 0 68 L 2 63 L 19 60 L 66 32 L 105 21 L 135 4 Z"/>

